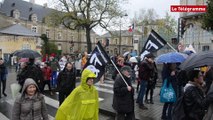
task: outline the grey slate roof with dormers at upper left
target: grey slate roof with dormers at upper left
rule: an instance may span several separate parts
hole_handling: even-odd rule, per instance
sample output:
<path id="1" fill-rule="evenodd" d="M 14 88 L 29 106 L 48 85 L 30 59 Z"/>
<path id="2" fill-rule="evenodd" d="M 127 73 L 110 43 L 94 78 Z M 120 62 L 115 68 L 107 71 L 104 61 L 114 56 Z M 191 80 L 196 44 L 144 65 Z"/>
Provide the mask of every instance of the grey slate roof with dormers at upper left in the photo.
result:
<path id="1" fill-rule="evenodd" d="M 0 12 L 5 13 L 6 16 L 11 16 L 11 11 L 15 9 L 19 10 L 20 19 L 29 20 L 30 15 L 36 14 L 38 21 L 42 21 L 53 10 L 23 0 L 4 0 L 0 7 Z"/>

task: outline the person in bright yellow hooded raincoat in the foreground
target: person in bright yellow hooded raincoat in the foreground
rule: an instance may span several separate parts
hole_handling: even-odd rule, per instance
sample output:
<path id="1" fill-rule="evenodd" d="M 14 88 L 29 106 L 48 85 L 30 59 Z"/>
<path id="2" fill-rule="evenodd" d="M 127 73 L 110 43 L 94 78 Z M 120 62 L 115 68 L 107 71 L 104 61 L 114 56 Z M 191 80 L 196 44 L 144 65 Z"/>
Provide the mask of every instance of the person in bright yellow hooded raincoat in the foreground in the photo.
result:
<path id="1" fill-rule="evenodd" d="M 93 86 L 95 76 L 91 70 L 84 69 L 81 84 L 58 108 L 56 120 L 98 120 L 98 91 Z"/>

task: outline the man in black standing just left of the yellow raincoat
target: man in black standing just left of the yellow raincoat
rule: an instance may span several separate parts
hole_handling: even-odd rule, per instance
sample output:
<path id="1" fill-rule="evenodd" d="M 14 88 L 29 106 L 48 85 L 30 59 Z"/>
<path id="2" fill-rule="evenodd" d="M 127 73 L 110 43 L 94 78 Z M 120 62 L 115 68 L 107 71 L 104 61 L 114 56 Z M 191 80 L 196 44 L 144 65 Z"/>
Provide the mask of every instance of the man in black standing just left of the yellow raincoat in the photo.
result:
<path id="1" fill-rule="evenodd" d="M 66 63 L 64 70 L 58 75 L 58 89 L 59 89 L 59 105 L 64 99 L 69 96 L 75 88 L 76 74 L 74 65 L 71 62 Z"/>

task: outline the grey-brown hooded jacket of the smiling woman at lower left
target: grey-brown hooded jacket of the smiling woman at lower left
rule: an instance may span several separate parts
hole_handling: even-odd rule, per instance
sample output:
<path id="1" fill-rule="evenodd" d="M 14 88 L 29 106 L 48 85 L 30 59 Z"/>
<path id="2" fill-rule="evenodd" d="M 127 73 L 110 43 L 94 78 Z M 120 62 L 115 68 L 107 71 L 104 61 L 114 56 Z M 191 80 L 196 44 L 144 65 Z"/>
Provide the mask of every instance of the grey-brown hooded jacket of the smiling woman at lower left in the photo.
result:
<path id="1" fill-rule="evenodd" d="M 25 91 L 31 84 L 36 86 L 37 92 L 29 98 Z M 33 79 L 25 80 L 22 93 L 15 100 L 11 120 L 48 120 L 44 97 L 39 93 L 39 88 Z"/>

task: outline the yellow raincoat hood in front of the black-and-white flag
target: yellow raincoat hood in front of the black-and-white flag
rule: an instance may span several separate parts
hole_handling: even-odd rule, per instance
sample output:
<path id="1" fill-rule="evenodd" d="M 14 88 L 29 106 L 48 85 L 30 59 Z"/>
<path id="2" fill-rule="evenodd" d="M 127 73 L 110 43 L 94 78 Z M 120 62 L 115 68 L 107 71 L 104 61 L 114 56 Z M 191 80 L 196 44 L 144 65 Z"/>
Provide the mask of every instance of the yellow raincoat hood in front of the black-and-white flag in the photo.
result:
<path id="1" fill-rule="evenodd" d="M 81 86 L 85 89 L 89 89 L 89 85 L 87 85 L 87 78 L 96 78 L 96 75 L 89 69 L 84 69 L 81 75 Z"/>

